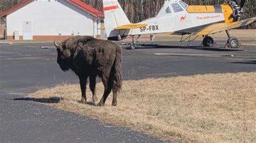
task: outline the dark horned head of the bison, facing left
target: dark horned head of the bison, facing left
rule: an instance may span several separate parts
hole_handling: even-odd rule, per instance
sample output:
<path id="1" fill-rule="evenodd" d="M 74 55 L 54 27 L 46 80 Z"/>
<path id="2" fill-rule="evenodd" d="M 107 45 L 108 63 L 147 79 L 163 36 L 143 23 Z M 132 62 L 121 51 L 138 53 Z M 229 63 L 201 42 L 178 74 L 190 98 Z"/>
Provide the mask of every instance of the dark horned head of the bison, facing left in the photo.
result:
<path id="1" fill-rule="evenodd" d="M 69 48 L 63 46 L 63 44 L 57 44 L 54 41 L 54 45 L 57 48 L 58 57 L 57 63 L 63 71 L 67 71 L 72 67 L 72 54 Z"/>

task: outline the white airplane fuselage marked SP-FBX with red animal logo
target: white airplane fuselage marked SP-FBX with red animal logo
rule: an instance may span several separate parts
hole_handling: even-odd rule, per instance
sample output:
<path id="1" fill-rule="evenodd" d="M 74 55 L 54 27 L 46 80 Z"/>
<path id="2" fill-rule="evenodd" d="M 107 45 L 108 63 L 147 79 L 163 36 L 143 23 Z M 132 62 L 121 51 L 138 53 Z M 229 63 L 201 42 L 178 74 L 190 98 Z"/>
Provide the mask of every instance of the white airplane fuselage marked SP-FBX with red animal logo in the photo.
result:
<path id="1" fill-rule="evenodd" d="M 197 9 L 204 6 L 193 6 Z M 188 12 L 187 9 L 194 9 L 187 6 L 183 11 L 174 12 L 170 5 L 165 5 L 159 12 L 157 17 L 146 19 L 140 23 L 147 24 L 147 26 L 134 28 L 130 31 L 120 31 L 124 35 L 142 35 L 142 34 L 158 34 L 158 33 L 172 33 L 172 34 L 186 34 L 195 33 L 201 28 L 213 23 L 233 22 L 232 19 L 225 18 L 226 5 L 213 5 L 215 11 L 210 12 Z M 171 13 L 163 13 L 161 11 L 170 8 Z M 232 9 L 230 9 L 232 10 Z M 230 13 L 230 12 L 229 12 Z M 230 16 L 230 15 L 229 15 Z"/>

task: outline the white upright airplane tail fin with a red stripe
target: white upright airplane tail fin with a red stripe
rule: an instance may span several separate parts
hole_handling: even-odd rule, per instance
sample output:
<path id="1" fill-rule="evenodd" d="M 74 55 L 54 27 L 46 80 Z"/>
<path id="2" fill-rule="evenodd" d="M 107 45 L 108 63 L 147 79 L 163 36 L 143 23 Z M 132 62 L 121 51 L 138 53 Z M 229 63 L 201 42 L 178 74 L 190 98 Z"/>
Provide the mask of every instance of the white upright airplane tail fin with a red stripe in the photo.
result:
<path id="1" fill-rule="evenodd" d="M 103 0 L 105 31 L 108 39 L 119 40 L 118 31 L 114 28 L 130 24 L 130 20 L 124 13 L 117 0 Z"/>

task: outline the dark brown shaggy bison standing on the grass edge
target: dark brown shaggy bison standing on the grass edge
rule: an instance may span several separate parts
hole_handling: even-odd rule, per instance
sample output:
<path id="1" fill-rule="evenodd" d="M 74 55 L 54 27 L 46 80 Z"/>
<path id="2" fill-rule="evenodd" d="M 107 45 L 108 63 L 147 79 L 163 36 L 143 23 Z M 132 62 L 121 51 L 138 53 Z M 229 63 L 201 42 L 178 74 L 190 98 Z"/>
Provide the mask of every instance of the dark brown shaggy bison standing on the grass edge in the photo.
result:
<path id="1" fill-rule="evenodd" d="M 82 92 L 81 103 L 86 104 L 86 82 L 90 79 L 92 101 L 96 102 L 96 77 L 104 84 L 104 94 L 98 106 L 103 106 L 113 91 L 112 105 L 117 105 L 117 92 L 122 88 L 122 49 L 111 41 L 88 36 L 76 36 L 54 42 L 57 47 L 57 63 L 63 71 L 73 70 L 79 77 Z"/>

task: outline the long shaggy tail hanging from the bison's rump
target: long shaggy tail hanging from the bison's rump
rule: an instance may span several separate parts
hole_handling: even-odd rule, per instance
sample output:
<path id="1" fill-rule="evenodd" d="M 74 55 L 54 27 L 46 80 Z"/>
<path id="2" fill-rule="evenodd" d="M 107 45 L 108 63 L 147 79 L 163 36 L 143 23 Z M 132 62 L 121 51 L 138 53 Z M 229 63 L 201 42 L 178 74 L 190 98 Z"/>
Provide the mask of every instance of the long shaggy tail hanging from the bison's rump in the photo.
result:
<path id="1" fill-rule="evenodd" d="M 113 75 L 114 75 L 114 81 L 113 81 L 113 89 L 116 91 L 121 91 L 122 90 L 122 49 L 117 48 L 117 53 L 116 53 L 116 59 L 114 60 L 114 65 L 113 65 Z"/>

